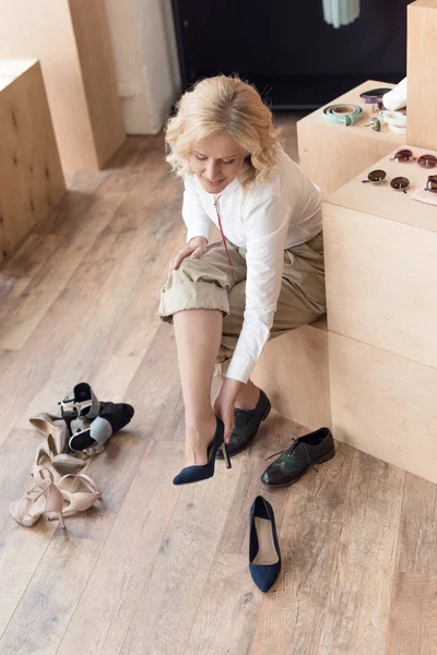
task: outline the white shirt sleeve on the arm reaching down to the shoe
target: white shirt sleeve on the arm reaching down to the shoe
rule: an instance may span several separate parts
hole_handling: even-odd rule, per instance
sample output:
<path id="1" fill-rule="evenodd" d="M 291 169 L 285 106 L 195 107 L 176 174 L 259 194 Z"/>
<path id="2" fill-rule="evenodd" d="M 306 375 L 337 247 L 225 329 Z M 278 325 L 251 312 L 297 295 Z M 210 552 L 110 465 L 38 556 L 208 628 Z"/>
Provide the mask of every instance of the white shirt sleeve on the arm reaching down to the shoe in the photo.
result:
<path id="1" fill-rule="evenodd" d="M 246 222 L 246 308 L 227 378 L 246 383 L 269 340 L 282 284 L 288 217 L 290 207 L 271 196 L 255 202 Z"/>

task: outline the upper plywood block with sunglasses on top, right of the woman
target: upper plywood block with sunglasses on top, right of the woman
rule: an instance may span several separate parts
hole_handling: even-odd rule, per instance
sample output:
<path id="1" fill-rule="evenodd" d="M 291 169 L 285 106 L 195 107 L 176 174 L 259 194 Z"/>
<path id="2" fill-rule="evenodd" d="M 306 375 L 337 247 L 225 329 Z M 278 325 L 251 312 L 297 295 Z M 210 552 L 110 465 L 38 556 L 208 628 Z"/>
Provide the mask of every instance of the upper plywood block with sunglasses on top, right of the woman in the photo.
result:
<path id="1" fill-rule="evenodd" d="M 371 168 L 413 188 L 363 184 L 365 171 L 324 203 L 329 329 L 437 368 L 437 206 L 411 198 L 432 170 L 390 156 Z"/>

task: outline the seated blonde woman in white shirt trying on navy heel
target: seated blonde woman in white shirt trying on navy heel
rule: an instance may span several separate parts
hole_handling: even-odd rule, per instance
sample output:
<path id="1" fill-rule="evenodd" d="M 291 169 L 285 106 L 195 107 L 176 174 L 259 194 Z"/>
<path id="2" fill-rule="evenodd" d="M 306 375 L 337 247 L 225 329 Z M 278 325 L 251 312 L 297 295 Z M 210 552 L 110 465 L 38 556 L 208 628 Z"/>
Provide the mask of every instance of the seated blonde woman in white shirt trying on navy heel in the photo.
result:
<path id="1" fill-rule="evenodd" d="M 175 329 L 187 467 L 174 483 L 186 484 L 211 477 L 218 448 L 241 451 L 269 414 L 250 380 L 269 337 L 326 312 L 321 201 L 281 147 L 269 108 L 237 78 L 186 93 L 166 145 L 188 228 L 160 306 Z M 223 242 L 208 245 L 210 221 Z M 211 407 L 213 373 L 223 383 Z"/>

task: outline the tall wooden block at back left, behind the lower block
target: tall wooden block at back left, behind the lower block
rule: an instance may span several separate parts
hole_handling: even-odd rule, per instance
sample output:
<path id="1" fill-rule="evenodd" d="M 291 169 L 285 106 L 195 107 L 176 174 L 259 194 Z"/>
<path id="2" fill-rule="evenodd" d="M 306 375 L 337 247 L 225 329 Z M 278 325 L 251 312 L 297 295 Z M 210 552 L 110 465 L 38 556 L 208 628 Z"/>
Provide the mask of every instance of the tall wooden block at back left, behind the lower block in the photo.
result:
<path id="1" fill-rule="evenodd" d="M 63 169 L 98 170 L 125 140 L 104 0 L 0 0 L 0 57 L 42 62 Z"/>

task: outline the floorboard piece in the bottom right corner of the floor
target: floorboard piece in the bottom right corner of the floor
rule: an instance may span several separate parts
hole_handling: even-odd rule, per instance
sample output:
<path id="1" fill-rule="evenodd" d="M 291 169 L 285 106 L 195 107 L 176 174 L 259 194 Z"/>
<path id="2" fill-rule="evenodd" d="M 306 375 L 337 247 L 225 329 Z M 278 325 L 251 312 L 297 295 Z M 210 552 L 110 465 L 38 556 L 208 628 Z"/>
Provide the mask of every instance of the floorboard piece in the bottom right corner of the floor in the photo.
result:
<path id="1" fill-rule="evenodd" d="M 387 640 L 387 655 L 434 655 L 437 643 L 437 577 L 399 573 Z"/>

